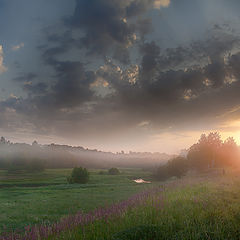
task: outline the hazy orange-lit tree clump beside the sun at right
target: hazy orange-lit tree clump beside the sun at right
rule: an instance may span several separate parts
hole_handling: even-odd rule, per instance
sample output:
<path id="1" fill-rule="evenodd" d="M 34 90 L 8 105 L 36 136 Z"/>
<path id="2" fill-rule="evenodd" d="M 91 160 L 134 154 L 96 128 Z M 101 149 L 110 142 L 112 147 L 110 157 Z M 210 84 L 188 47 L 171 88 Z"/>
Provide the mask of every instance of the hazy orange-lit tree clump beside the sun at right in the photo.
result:
<path id="1" fill-rule="evenodd" d="M 233 167 L 240 163 L 240 148 L 233 137 L 225 141 L 218 132 L 202 134 L 198 142 L 190 147 L 186 157 L 175 157 L 160 166 L 155 176 L 159 180 L 182 177 L 189 170 L 198 172 L 209 169 Z"/>

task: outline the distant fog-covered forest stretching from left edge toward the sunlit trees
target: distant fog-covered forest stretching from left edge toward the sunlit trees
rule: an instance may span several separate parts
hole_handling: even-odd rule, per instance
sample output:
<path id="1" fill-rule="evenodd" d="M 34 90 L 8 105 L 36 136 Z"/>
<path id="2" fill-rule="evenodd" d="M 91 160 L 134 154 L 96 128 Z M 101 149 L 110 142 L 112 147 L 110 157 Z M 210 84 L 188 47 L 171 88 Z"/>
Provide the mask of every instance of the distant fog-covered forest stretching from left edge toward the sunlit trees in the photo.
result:
<path id="1" fill-rule="evenodd" d="M 112 153 L 72 147 L 68 145 L 41 145 L 12 143 L 0 139 L 0 169 L 9 172 L 40 171 L 43 168 L 87 168 L 137 167 L 152 168 L 166 163 L 173 155 L 165 153 Z"/>

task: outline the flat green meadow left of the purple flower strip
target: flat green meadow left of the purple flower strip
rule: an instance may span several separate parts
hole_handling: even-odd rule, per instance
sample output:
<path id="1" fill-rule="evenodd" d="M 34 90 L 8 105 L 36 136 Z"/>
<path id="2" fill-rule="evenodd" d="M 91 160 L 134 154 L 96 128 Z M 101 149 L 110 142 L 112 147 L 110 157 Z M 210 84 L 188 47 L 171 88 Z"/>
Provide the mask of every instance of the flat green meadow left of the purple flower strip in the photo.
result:
<path id="1" fill-rule="evenodd" d="M 26 225 L 55 222 L 63 216 L 87 212 L 122 200 L 144 189 L 135 177 L 149 177 L 141 170 L 122 169 L 118 176 L 90 171 L 88 184 L 67 184 L 71 169 L 46 170 L 37 174 L 8 175 L 0 171 L 0 232 Z"/>

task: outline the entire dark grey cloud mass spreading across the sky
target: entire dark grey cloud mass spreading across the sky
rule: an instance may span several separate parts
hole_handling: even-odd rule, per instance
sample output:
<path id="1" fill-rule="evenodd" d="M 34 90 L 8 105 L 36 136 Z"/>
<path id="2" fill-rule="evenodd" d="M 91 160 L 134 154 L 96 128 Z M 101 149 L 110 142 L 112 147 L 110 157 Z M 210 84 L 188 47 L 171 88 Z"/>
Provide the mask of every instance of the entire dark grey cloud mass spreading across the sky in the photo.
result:
<path id="1" fill-rule="evenodd" d="M 171 4 L 180 15 L 197 6 L 202 12 L 207 1 Z M 230 23 L 213 23 L 201 38 L 163 48 L 147 11 L 152 6 L 150 0 L 77 0 L 62 29 L 46 30 L 39 47 L 51 69 L 48 79 L 34 73 L 15 78 L 27 97 L 2 101 L 2 112 L 11 109 L 37 126 L 47 122 L 60 134 L 99 136 L 142 122 L 161 130 L 223 121 L 240 104 L 238 32 Z M 186 25 L 194 14 L 183 16 Z"/>

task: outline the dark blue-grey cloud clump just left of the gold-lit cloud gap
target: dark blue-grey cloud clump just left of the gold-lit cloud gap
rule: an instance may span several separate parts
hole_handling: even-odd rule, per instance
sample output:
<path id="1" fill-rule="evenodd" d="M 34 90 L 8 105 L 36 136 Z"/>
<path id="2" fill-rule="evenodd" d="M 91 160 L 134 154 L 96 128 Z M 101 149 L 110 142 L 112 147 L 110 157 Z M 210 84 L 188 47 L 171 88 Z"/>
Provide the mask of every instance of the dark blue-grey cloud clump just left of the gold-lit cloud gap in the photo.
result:
<path id="1" fill-rule="evenodd" d="M 48 117 L 64 108 L 79 107 L 94 98 L 90 85 L 95 81 L 95 74 L 86 71 L 81 62 L 55 61 L 52 66 L 56 70 L 53 76 L 56 80 L 52 84 L 47 86 L 40 82 L 24 85 L 30 93 L 29 100 L 40 113 L 44 112 Z"/>

